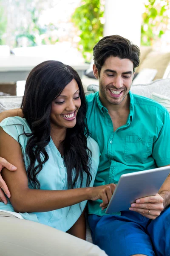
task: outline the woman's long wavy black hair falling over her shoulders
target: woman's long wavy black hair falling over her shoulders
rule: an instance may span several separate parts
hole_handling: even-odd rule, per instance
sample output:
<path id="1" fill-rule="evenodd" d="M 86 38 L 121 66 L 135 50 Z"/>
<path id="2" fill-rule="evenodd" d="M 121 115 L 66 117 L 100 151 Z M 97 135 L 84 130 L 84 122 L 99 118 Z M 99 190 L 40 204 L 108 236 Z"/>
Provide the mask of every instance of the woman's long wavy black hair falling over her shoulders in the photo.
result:
<path id="1" fill-rule="evenodd" d="M 78 178 L 80 187 L 82 186 L 84 172 L 87 174 L 86 186 L 91 182 L 89 167 L 91 151 L 87 147 L 89 131 L 85 116 L 87 105 L 81 79 L 72 67 L 62 62 L 44 61 L 30 72 L 21 104 L 24 118 L 32 131 L 31 134 L 25 132 L 24 134 L 30 136 L 26 145 L 27 173 L 28 181 L 34 188 L 40 189 L 37 175 L 48 160 L 45 146 L 50 141 L 51 104 L 72 79 L 75 79 L 79 86 L 81 106 L 77 113 L 76 125 L 73 128 L 67 128 L 65 140 L 62 141 L 68 173 L 68 189 L 77 186 Z M 37 166 L 35 166 L 36 162 Z"/>

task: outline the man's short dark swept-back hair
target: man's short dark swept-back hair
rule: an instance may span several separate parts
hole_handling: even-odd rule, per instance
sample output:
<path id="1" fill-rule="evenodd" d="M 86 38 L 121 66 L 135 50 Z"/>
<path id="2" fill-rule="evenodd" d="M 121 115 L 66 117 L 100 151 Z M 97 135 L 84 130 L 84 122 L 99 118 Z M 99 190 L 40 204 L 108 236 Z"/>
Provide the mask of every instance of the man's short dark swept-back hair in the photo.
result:
<path id="1" fill-rule="evenodd" d="M 133 71 L 140 63 L 139 47 L 120 35 L 105 36 L 95 45 L 93 51 L 94 64 L 99 74 L 105 60 L 110 56 L 129 59 L 133 62 Z"/>

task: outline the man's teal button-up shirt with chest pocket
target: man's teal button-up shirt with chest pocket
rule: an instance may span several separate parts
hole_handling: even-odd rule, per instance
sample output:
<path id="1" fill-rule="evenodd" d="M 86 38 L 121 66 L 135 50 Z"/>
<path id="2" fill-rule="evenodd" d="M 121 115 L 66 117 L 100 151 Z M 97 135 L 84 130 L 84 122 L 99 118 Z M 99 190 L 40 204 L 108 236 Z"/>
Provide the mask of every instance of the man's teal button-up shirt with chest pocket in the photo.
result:
<path id="1" fill-rule="evenodd" d="M 131 92 L 129 96 L 130 113 L 126 125 L 115 132 L 99 92 L 87 96 L 88 128 L 101 154 L 94 186 L 118 183 L 125 173 L 170 164 L 170 115 L 167 109 Z M 105 215 L 105 210 L 99 207 L 101 202 L 89 201 L 89 213 Z"/>

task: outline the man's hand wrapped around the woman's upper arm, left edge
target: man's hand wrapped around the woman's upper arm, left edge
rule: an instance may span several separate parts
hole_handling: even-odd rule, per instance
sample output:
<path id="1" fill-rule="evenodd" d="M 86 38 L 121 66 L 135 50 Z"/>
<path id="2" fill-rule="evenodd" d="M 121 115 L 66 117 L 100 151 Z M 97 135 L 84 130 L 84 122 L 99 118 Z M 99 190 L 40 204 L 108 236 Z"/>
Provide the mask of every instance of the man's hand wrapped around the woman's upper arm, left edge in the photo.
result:
<path id="1" fill-rule="evenodd" d="M 11 163 L 8 163 L 4 158 L 0 157 L 0 172 L 3 169 L 3 167 L 6 167 L 6 169 L 8 169 L 9 171 L 17 170 L 17 167 L 13 166 Z M 4 193 L 7 195 L 8 198 L 11 197 L 8 187 L 5 181 L 3 180 L 2 176 L 0 175 L 0 201 L 4 202 L 4 204 L 7 204 L 7 199 L 1 189 L 3 189 Z"/>

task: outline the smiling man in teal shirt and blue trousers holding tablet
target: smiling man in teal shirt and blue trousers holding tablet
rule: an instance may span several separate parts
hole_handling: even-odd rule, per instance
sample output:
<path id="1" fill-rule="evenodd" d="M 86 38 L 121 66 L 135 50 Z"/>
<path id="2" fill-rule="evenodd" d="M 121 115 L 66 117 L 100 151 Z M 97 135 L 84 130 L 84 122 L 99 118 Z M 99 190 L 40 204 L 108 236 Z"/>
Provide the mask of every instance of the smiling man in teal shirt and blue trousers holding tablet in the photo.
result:
<path id="1" fill-rule="evenodd" d="M 127 172 L 170 165 L 169 113 L 130 93 L 139 55 L 138 47 L 117 35 L 94 47 L 99 93 L 87 97 L 87 119 L 101 153 L 95 186 L 117 183 Z M 169 205 L 169 177 L 159 194 L 136 201 L 128 211 L 107 215 L 100 200 L 90 201 L 93 241 L 109 256 L 169 256 Z"/>

